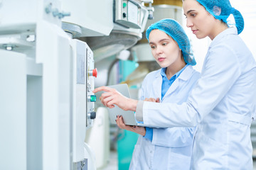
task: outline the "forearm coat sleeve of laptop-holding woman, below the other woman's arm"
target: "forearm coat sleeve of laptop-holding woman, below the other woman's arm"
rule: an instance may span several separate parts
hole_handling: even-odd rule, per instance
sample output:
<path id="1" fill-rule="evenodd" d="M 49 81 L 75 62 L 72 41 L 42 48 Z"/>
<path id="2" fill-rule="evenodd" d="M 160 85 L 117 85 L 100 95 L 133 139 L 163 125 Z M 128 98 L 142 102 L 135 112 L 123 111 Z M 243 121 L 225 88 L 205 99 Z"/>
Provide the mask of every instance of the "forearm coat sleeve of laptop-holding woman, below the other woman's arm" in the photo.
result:
<path id="1" fill-rule="evenodd" d="M 161 147 L 186 147 L 191 145 L 196 128 L 154 128 L 153 145 Z"/>

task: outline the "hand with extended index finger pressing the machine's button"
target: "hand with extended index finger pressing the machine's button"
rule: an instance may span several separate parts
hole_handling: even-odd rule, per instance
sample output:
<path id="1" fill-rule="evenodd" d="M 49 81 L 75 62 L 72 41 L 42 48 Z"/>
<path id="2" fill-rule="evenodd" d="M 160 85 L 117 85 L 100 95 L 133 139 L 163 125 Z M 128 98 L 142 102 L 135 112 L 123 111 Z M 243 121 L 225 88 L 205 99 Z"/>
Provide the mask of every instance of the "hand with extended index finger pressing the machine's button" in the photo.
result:
<path id="1" fill-rule="evenodd" d="M 98 91 L 105 91 L 105 93 L 100 96 L 100 101 L 104 106 L 107 106 L 108 108 L 114 108 L 114 105 L 117 105 L 124 111 L 136 111 L 138 103 L 137 100 L 127 98 L 120 94 L 116 89 L 107 86 L 98 87 L 92 92 L 97 93 Z"/>

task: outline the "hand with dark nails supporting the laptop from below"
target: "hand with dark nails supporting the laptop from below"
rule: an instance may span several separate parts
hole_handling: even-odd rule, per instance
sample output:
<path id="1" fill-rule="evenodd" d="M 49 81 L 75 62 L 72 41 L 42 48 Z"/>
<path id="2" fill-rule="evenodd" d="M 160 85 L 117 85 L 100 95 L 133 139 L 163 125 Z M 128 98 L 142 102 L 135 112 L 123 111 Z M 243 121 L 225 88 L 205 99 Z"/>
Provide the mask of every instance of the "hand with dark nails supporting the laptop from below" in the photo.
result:
<path id="1" fill-rule="evenodd" d="M 138 133 L 139 135 L 142 135 L 142 136 L 146 135 L 146 129 L 144 127 L 135 126 L 135 125 L 134 126 L 125 125 L 124 120 L 122 119 L 122 115 L 117 115 L 116 122 L 117 122 L 117 126 L 121 129 L 136 132 L 136 133 Z"/>

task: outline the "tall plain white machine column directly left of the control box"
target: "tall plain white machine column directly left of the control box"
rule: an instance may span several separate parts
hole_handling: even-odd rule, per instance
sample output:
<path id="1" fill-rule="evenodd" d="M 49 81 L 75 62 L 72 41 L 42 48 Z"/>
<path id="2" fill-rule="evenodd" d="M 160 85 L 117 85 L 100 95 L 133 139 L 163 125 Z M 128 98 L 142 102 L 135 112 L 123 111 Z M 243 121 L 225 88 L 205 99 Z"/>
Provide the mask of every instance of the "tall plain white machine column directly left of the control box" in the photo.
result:
<path id="1" fill-rule="evenodd" d="M 37 26 L 36 60 L 43 64 L 43 169 L 70 169 L 70 43 L 58 26 Z"/>

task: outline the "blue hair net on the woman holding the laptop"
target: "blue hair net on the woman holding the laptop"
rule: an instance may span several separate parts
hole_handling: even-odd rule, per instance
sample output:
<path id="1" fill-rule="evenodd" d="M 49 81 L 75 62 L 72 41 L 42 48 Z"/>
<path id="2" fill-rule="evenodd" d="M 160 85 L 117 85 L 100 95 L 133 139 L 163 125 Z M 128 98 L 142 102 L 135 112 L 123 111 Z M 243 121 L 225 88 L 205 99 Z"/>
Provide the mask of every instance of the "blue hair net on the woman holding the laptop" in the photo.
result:
<path id="1" fill-rule="evenodd" d="M 146 39 L 149 40 L 151 30 L 158 29 L 171 36 L 177 43 L 182 51 L 183 58 L 187 64 L 196 65 L 196 60 L 191 52 L 191 45 L 188 36 L 181 27 L 181 25 L 173 19 L 162 19 L 153 23 L 146 30 Z"/>

